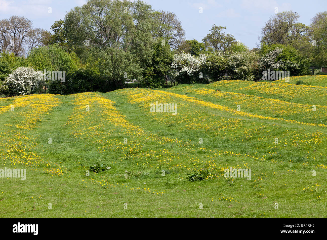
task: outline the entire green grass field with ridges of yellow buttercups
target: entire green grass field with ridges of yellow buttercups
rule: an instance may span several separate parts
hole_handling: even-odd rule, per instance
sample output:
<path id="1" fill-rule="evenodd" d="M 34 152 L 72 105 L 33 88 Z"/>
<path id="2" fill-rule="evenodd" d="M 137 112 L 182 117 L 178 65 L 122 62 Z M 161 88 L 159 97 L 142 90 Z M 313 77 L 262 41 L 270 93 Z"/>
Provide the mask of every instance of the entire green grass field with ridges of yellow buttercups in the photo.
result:
<path id="1" fill-rule="evenodd" d="M 0 215 L 327 217 L 326 80 L 0 99 L 1 168 L 26 168 L 0 178 Z M 156 101 L 177 114 L 151 112 Z M 251 180 L 225 178 L 230 167 Z"/>

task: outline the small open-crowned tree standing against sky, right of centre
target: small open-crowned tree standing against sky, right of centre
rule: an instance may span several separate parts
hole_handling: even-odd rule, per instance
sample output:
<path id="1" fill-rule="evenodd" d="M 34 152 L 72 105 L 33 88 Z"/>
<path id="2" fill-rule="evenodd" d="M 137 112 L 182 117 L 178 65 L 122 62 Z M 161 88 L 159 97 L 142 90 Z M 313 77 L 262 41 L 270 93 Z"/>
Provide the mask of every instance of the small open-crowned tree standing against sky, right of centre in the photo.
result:
<path id="1" fill-rule="evenodd" d="M 235 41 L 234 37 L 231 34 L 225 34 L 222 32 L 226 27 L 216 26 L 215 24 L 211 27 L 210 33 L 202 39 L 207 50 L 213 49 L 214 51 L 225 50 Z"/>

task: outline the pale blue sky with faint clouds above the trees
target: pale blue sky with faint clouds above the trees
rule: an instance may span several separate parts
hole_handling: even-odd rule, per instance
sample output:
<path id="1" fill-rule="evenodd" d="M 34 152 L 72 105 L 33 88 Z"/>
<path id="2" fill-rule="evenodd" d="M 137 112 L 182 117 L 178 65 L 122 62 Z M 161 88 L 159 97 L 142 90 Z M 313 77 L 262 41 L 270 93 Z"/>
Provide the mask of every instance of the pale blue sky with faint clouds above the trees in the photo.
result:
<path id="1" fill-rule="evenodd" d="M 250 49 L 259 42 L 261 28 L 276 11 L 292 10 L 300 15 L 299 21 L 310 24 L 318 12 L 327 10 L 326 0 L 145 0 L 154 10 L 174 12 L 182 22 L 187 40 L 201 41 L 212 25 L 226 27 L 230 33 Z M 0 0 L 0 19 L 12 15 L 25 16 L 34 27 L 50 31 L 51 25 L 86 0 Z M 49 13 L 51 8 L 51 13 Z M 202 13 L 200 13 L 201 9 Z"/>

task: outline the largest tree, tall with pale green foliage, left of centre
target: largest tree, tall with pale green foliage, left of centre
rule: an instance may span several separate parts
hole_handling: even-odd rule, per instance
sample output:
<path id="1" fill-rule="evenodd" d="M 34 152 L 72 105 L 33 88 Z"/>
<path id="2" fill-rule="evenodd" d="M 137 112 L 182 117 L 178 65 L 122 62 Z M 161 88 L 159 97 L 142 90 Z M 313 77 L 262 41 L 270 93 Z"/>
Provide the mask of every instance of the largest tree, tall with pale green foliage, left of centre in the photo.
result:
<path id="1" fill-rule="evenodd" d="M 140 0 L 90 0 L 66 14 L 65 36 L 69 44 L 82 46 L 76 52 L 83 62 L 95 56 L 103 59 L 99 70 L 108 73 L 112 88 L 123 87 L 124 72 L 129 79 L 141 80 L 140 73 L 151 63 L 152 14 L 151 6 Z"/>

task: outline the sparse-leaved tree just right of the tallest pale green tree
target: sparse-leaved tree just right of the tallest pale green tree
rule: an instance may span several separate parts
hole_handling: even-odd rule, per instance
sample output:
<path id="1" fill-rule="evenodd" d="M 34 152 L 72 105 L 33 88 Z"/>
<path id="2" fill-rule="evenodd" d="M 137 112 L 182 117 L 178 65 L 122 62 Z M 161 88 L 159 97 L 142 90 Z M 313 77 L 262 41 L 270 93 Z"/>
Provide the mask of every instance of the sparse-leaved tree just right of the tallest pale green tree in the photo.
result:
<path id="1" fill-rule="evenodd" d="M 163 38 L 171 48 L 177 49 L 185 36 L 185 30 L 177 15 L 172 12 L 156 11 L 153 18 L 156 20 L 153 37 Z"/>

